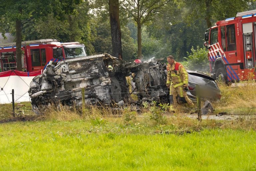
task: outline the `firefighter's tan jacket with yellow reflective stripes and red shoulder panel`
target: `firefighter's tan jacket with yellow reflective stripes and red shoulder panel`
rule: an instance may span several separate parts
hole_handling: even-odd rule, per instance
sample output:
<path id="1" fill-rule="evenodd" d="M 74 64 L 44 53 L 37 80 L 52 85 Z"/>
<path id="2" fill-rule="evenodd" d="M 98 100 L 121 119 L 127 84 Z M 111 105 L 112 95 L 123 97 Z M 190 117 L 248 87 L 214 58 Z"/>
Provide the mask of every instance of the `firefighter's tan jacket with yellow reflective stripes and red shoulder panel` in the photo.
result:
<path id="1" fill-rule="evenodd" d="M 182 85 L 188 85 L 188 73 L 182 64 L 174 61 L 174 64 L 167 65 L 166 85 L 173 85 L 174 88 Z"/>

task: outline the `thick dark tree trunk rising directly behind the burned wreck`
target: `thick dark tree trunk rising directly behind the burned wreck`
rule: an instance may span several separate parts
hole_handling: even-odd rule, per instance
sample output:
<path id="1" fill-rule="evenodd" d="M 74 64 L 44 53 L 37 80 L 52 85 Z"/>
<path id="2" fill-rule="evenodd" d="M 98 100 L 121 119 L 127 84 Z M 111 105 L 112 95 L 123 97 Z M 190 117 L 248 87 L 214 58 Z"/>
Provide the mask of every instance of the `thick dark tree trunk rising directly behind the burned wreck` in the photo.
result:
<path id="1" fill-rule="evenodd" d="M 109 0 L 109 18 L 111 27 L 112 56 L 122 57 L 121 27 L 119 20 L 119 0 Z"/>

